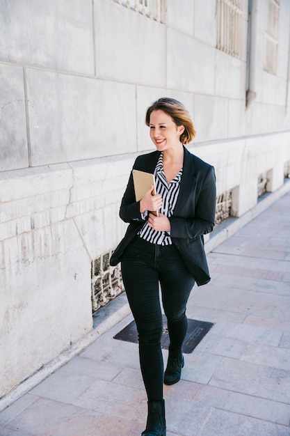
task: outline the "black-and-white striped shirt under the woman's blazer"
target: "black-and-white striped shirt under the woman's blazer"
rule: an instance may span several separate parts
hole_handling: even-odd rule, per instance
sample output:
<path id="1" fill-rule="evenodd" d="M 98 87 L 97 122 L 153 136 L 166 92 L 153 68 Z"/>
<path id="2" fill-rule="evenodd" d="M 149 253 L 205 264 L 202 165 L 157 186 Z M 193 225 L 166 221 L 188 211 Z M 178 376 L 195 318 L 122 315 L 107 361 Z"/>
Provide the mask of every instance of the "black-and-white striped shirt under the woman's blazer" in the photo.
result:
<path id="1" fill-rule="evenodd" d="M 173 215 L 175 204 L 177 202 L 180 182 L 182 180 L 182 169 L 168 185 L 166 175 L 163 171 L 163 153 L 161 153 L 156 164 L 156 168 L 154 170 L 154 178 L 156 184 L 156 192 L 158 194 L 161 194 L 162 196 L 162 208 L 160 209 L 160 212 L 169 218 Z M 148 226 L 147 221 L 138 234 L 140 238 L 143 238 L 144 240 L 146 240 L 147 242 L 151 242 L 152 244 L 172 244 L 170 232 L 156 231 L 154 230 L 154 228 Z"/>

